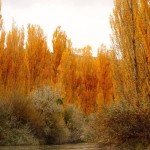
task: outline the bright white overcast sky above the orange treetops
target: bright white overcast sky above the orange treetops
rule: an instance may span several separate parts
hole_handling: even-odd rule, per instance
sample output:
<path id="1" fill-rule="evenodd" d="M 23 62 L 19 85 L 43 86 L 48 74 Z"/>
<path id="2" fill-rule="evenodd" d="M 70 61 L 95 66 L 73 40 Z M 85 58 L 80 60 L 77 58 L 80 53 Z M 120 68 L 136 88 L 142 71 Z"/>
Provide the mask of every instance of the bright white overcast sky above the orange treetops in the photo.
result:
<path id="1" fill-rule="evenodd" d="M 113 0 L 2 0 L 2 15 L 6 30 L 12 20 L 21 27 L 28 23 L 44 29 L 52 49 L 52 35 L 58 25 L 66 31 L 73 47 L 92 46 L 96 55 L 102 43 L 111 45 L 109 16 Z"/>

